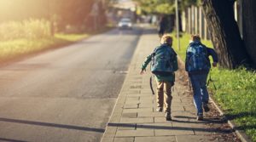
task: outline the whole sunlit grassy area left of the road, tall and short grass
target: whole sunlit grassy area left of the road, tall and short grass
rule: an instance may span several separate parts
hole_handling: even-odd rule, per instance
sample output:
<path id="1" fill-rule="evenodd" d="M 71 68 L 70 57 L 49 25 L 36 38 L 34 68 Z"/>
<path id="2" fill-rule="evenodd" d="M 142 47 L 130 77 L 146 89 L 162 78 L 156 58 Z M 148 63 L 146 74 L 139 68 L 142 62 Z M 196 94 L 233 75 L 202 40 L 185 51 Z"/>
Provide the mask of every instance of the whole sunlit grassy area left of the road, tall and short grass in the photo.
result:
<path id="1" fill-rule="evenodd" d="M 89 34 L 50 34 L 49 21 L 23 20 L 0 24 L 0 62 L 74 43 Z"/>

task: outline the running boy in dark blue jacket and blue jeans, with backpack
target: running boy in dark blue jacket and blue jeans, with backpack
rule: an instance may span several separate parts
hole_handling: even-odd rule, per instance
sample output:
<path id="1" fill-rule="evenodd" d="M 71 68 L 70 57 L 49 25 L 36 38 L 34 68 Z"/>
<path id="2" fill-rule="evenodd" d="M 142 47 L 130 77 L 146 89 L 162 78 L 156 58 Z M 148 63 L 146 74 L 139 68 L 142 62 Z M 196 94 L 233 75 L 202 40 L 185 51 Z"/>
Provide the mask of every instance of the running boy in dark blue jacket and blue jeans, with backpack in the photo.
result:
<path id="1" fill-rule="evenodd" d="M 194 104 L 197 109 L 197 120 L 203 120 L 203 109 L 209 111 L 207 92 L 207 76 L 211 68 L 209 56 L 212 56 L 212 66 L 217 66 L 218 56 L 212 48 L 201 43 L 201 37 L 192 36 L 187 49 L 185 67 L 194 90 Z"/>

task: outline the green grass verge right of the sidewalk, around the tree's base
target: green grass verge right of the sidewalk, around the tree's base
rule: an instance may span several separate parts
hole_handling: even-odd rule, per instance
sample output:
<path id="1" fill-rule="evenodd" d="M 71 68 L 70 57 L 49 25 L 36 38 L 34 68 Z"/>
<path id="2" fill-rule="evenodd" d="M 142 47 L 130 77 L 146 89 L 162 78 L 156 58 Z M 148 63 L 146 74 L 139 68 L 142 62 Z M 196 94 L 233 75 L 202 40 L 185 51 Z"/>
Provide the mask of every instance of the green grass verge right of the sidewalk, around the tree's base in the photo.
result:
<path id="1" fill-rule="evenodd" d="M 181 49 L 177 48 L 177 39 L 174 37 L 173 47 L 185 60 L 186 48 L 189 45 L 189 34 L 183 34 L 180 39 Z M 210 41 L 202 40 L 207 47 L 212 47 Z M 256 142 L 256 73 L 255 71 L 247 71 L 239 68 L 233 71 L 212 68 L 212 80 L 210 82 L 210 90 L 212 97 L 215 99 L 225 114 L 236 122 L 241 130 L 244 130 L 254 142 Z"/>

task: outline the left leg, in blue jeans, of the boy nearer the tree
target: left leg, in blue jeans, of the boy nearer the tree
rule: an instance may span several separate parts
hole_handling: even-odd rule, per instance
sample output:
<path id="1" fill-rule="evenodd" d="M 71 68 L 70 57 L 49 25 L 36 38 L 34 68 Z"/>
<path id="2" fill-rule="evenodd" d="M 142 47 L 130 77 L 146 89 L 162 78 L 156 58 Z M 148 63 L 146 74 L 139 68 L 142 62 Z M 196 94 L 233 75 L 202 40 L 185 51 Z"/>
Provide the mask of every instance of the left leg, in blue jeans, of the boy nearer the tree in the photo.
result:
<path id="1" fill-rule="evenodd" d="M 202 116 L 202 99 L 201 99 L 201 85 L 200 85 L 200 77 L 199 75 L 189 75 L 192 88 L 194 91 L 194 104 L 197 110 L 197 116 Z"/>

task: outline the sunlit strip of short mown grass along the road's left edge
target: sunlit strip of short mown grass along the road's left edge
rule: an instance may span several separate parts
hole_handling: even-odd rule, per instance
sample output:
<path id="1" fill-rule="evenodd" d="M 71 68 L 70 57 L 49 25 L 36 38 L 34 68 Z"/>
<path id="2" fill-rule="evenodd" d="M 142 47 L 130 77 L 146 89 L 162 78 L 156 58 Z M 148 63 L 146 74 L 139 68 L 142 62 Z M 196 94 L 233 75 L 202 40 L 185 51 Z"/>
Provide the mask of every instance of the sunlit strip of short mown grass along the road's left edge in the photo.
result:
<path id="1" fill-rule="evenodd" d="M 79 41 L 89 34 L 55 34 L 55 37 L 42 39 L 20 38 L 15 40 L 0 41 L 0 60 L 6 61 L 16 57 L 37 53 L 49 48 L 57 48 Z"/>

